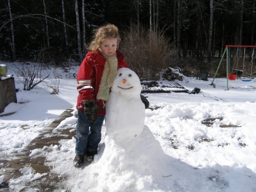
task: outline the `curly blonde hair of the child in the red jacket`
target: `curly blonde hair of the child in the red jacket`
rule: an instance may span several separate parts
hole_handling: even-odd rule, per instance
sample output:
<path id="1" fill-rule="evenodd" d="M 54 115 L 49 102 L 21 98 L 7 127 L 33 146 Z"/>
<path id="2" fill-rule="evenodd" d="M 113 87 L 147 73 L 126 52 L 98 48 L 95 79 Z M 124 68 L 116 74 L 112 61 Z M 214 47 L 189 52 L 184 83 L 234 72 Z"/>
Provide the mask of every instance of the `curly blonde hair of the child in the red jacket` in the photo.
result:
<path id="1" fill-rule="evenodd" d="M 118 32 L 118 28 L 115 25 L 108 24 L 96 29 L 94 34 L 94 39 L 90 42 L 88 49 L 92 52 L 96 52 L 99 49 L 101 42 L 106 38 L 117 38 L 117 48 L 119 47 L 119 42 L 121 40 Z"/>

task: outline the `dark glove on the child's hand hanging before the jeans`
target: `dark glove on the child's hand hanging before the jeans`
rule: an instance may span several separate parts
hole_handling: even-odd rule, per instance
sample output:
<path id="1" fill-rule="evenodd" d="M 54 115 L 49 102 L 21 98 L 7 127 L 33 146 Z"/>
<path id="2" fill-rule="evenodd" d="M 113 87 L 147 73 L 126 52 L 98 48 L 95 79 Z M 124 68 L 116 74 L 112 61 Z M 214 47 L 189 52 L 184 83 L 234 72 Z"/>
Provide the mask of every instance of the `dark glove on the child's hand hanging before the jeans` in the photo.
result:
<path id="1" fill-rule="evenodd" d="M 84 115 L 91 123 L 95 123 L 97 120 L 97 110 L 102 110 L 96 103 L 95 99 L 84 100 Z"/>

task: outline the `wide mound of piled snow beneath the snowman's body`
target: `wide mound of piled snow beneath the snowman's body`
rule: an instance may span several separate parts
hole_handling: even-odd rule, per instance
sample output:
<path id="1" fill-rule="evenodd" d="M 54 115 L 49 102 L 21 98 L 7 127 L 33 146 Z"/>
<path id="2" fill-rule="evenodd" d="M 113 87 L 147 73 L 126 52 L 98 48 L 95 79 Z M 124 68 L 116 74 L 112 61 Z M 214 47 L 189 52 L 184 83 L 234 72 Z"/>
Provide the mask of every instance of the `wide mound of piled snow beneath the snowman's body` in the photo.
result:
<path id="1" fill-rule="evenodd" d="M 106 135 L 103 146 L 95 156 L 97 164 L 102 163 L 102 169 L 108 173 L 132 172 L 139 176 L 150 175 L 152 178 L 171 174 L 170 170 L 166 169 L 169 167 L 167 159 L 160 143 L 146 125 L 140 135 L 126 138 L 122 142 L 116 142 Z"/>

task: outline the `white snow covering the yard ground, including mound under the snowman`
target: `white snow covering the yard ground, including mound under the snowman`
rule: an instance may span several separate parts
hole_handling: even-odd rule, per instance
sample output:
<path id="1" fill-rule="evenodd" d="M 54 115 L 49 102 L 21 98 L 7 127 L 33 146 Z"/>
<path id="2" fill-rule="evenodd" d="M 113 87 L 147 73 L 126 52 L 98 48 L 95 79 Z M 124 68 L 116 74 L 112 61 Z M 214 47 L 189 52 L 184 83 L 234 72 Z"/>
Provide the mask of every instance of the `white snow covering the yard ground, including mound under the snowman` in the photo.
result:
<path id="1" fill-rule="evenodd" d="M 0 159 L 11 160 L 63 111 L 76 105 L 74 76 L 78 67 L 57 69 L 59 93 L 53 95 L 44 83 L 23 91 L 14 71 L 24 63 L 2 64 L 14 75 L 20 90 L 16 93 L 18 103 L 10 103 L 0 114 Z M 230 80 L 229 90 L 226 78 L 216 78 L 216 88 L 210 85 L 212 77 L 203 81 L 184 76 L 176 82 L 188 93 L 143 93 L 150 109 L 141 116 L 144 125 L 136 137 L 117 142 L 106 135 L 108 123 L 104 122 L 98 154 L 90 165 L 72 165 L 75 138 L 60 140 L 49 150 L 36 148 L 30 156 L 45 153 L 46 164 L 54 167 L 51 172 L 66 178 L 57 183 L 56 191 L 256 191 L 256 80 Z M 189 94 L 194 88 L 201 90 Z M 73 110 L 76 114 L 75 107 Z M 125 114 L 122 122 L 132 121 L 133 117 Z M 56 130 L 71 127 L 75 131 L 76 121 L 73 115 Z M 132 123 L 130 126 L 134 130 Z M 4 169 L 3 163 L 0 168 Z M 30 166 L 20 171 L 27 174 L 9 184 L 17 191 L 35 191 L 28 183 L 46 175 Z M 0 183 L 3 180 L 0 176 Z"/>

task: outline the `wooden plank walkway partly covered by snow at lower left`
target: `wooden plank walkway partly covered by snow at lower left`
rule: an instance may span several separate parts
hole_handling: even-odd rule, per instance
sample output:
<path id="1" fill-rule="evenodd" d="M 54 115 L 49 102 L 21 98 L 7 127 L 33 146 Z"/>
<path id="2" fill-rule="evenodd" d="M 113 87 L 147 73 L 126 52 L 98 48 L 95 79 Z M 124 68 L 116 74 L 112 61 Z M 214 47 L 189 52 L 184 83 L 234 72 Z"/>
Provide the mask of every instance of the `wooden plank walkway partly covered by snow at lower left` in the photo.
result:
<path id="1" fill-rule="evenodd" d="M 24 183 L 26 191 L 29 189 L 36 189 L 35 191 L 53 191 L 56 189 L 56 183 L 65 178 L 60 178 L 58 175 L 54 175 L 50 172 L 51 167 L 46 166 L 46 157 L 42 154 L 39 157 L 30 157 L 31 150 L 36 148 L 43 148 L 44 146 L 58 145 L 61 139 L 72 139 L 75 136 L 75 132 L 70 132 L 69 128 L 53 133 L 52 131 L 59 125 L 62 120 L 71 117 L 72 108 L 68 108 L 58 118 L 56 118 L 44 131 L 42 131 L 36 138 L 34 138 L 22 151 L 20 151 L 12 160 L 5 162 L 4 166 L 0 169 L 0 176 L 4 175 L 4 182 L 0 186 L 0 191 L 17 191 L 14 188 L 9 187 L 9 180 L 15 179 L 23 175 L 19 170 L 24 167 L 32 167 L 36 173 L 45 174 L 38 180 Z M 51 134 L 52 137 L 46 137 L 46 134 Z M 38 190 L 39 189 L 39 190 Z"/>

